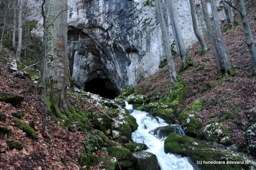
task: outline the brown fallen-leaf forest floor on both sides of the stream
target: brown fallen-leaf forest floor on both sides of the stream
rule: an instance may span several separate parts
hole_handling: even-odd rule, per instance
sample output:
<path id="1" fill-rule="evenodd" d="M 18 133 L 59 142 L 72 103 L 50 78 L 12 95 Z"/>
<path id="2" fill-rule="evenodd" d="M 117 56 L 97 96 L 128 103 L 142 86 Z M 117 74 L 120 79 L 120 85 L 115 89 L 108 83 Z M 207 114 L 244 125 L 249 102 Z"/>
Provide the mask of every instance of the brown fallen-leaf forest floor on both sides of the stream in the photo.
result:
<path id="1" fill-rule="evenodd" d="M 256 40 L 256 8 L 247 8 L 248 20 L 253 33 L 253 38 Z M 217 117 L 235 108 L 236 118 L 227 119 L 222 122 L 223 126 L 229 129 L 230 137 L 233 144 L 236 144 L 242 149 L 248 146 L 245 141 L 243 130 L 251 124 L 255 123 L 256 117 L 256 78 L 252 77 L 252 61 L 248 52 L 248 47 L 242 41 L 245 40 L 243 27 L 241 24 L 240 15 L 234 11 L 236 20 L 240 25 L 235 27 L 229 33 L 223 33 L 223 38 L 227 47 L 227 54 L 229 55 L 231 64 L 235 68 L 237 76 L 222 79 L 218 76 L 216 62 L 211 48 L 204 56 L 195 54 L 195 51 L 200 49 L 200 44 L 196 43 L 188 50 L 188 55 L 191 57 L 195 65 L 189 67 L 181 76 L 188 83 L 189 94 L 179 105 L 178 110 L 182 111 L 189 103 L 199 98 L 208 98 L 210 100 L 218 101 L 218 104 L 211 109 L 204 109 L 197 115 L 202 121 L 202 131 L 207 125 L 210 115 L 215 113 Z M 226 22 L 226 21 L 225 21 Z M 226 23 L 222 24 L 222 30 L 226 27 Z M 208 37 L 205 37 L 207 46 L 210 47 Z M 4 52 L 10 58 L 15 58 L 13 52 L 4 48 Z M 3 60 L 2 56 L 0 56 Z M 22 150 L 9 150 L 6 144 L 7 135 L 0 134 L 0 170 L 1 169 L 79 169 L 80 154 L 83 145 L 80 141 L 86 140 L 86 134 L 75 130 L 70 132 L 62 129 L 59 124 L 54 123 L 50 116 L 47 119 L 47 126 L 45 136 L 40 134 L 43 105 L 40 96 L 37 94 L 39 87 L 27 80 L 14 78 L 14 73 L 8 71 L 8 59 L 0 62 L 0 90 L 4 92 L 14 92 L 25 96 L 25 100 L 21 104 L 11 106 L 8 103 L 0 101 L 0 113 L 7 118 L 5 121 L 0 121 L 1 127 L 11 127 L 12 133 L 10 137 L 15 141 L 22 143 Z M 176 70 L 180 68 L 180 59 L 175 60 Z M 159 76 L 161 75 L 161 76 Z M 169 74 L 167 67 L 163 67 L 156 74 L 150 76 L 140 82 L 137 86 L 144 86 L 144 94 L 148 94 L 149 89 L 156 83 L 159 84 L 156 90 L 162 88 L 167 91 L 170 88 Z M 210 82 L 211 87 L 207 88 L 206 83 Z M 8 86 L 7 86 L 8 85 Z M 77 95 L 75 93 L 75 95 Z M 76 103 L 79 96 L 69 95 L 71 103 Z M 90 104 L 82 104 L 80 106 L 83 110 L 90 109 Z M 22 109 L 25 111 L 22 121 L 29 123 L 34 118 L 35 134 L 38 139 L 35 140 L 27 137 L 26 133 L 15 126 L 12 121 L 11 112 Z M 60 122 L 63 121 L 60 119 Z M 73 120 L 74 126 L 77 122 Z M 50 139 L 50 143 L 46 139 Z M 102 152 L 96 155 L 103 154 Z M 60 162 L 60 157 L 67 161 L 66 164 Z M 97 162 L 93 169 L 98 169 L 101 162 Z"/>

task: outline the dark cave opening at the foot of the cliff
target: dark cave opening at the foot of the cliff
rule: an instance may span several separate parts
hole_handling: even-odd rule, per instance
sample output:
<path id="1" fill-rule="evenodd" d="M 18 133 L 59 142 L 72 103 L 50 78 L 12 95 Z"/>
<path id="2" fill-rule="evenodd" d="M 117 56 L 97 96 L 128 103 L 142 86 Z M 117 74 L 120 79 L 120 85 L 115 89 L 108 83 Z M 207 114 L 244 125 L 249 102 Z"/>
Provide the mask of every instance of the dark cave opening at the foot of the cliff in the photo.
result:
<path id="1" fill-rule="evenodd" d="M 117 91 L 114 90 L 113 83 L 108 79 L 94 78 L 85 83 L 84 91 L 98 94 L 107 99 L 114 99 L 118 96 Z"/>

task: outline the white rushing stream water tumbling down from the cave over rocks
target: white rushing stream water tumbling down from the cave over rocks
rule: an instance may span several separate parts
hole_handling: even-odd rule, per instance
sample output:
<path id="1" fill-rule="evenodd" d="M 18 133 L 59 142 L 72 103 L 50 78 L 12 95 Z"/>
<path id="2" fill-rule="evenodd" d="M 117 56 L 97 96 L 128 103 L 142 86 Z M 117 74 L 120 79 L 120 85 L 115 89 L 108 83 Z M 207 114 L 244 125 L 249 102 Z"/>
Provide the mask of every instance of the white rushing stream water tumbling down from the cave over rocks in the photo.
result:
<path id="1" fill-rule="evenodd" d="M 132 109 L 132 104 L 125 101 L 125 108 Z M 147 112 L 134 110 L 131 115 L 136 118 L 139 124 L 138 130 L 132 133 L 132 139 L 136 143 L 145 143 L 148 146 L 147 152 L 151 152 L 157 156 L 161 170 L 193 170 L 193 166 L 188 162 L 187 158 L 182 158 L 174 154 L 166 154 L 164 151 L 164 140 L 160 141 L 149 131 L 169 124 L 163 119 L 149 115 Z"/>

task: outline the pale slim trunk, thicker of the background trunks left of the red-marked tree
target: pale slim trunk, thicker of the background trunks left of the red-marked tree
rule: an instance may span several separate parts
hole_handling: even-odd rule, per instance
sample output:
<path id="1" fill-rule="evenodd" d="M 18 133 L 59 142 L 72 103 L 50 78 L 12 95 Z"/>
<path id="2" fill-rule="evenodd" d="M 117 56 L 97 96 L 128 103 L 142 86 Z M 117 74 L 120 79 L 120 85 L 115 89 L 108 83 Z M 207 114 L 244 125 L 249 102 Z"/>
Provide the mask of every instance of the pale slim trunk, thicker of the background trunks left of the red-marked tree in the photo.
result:
<path id="1" fill-rule="evenodd" d="M 20 62 L 20 52 L 21 52 L 21 42 L 22 42 L 22 14 L 23 14 L 23 5 L 24 0 L 20 0 L 20 6 L 19 6 L 19 25 L 18 25 L 18 31 L 19 31 L 19 40 L 18 40 L 18 46 L 16 49 L 16 61 Z"/>

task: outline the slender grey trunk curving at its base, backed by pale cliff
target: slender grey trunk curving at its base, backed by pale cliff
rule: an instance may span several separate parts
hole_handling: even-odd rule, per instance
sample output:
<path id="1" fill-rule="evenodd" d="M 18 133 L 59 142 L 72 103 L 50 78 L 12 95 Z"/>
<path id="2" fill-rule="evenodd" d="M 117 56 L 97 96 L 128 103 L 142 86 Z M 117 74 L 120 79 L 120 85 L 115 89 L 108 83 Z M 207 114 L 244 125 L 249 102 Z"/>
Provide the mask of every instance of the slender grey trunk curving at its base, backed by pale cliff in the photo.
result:
<path id="1" fill-rule="evenodd" d="M 198 29 L 194 0 L 189 0 L 189 3 L 190 3 L 190 8 L 191 8 L 191 17 L 192 17 L 193 29 L 194 29 L 194 32 L 195 32 L 195 35 L 196 35 L 197 39 L 199 40 L 199 42 L 201 44 L 202 54 L 204 54 L 204 53 L 207 52 L 207 46 L 205 44 L 203 36 L 200 34 L 199 29 Z"/>

